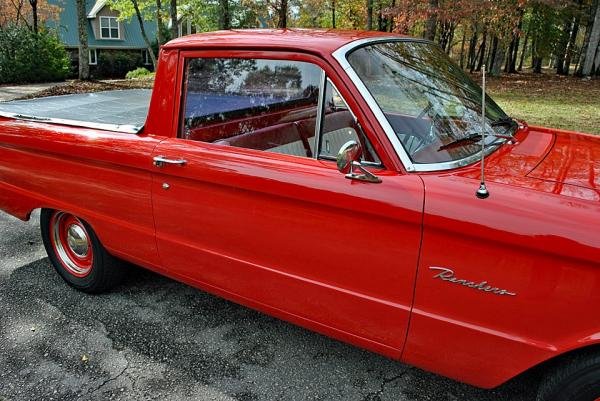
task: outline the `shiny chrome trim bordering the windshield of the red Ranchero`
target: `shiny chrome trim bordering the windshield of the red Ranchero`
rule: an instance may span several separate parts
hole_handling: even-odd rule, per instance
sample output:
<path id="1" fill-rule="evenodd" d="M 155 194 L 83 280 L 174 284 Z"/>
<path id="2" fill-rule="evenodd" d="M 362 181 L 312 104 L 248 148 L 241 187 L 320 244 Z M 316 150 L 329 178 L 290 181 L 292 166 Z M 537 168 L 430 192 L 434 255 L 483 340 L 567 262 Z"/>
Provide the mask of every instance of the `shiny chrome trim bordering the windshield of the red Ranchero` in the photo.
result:
<path id="1" fill-rule="evenodd" d="M 406 152 L 406 149 L 402 145 L 402 142 L 396 135 L 396 132 L 392 128 L 388 119 L 385 117 L 383 110 L 381 110 L 381 108 L 377 104 L 377 101 L 375 100 L 373 95 L 371 95 L 371 92 L 369 91 L 369 89 L 367 89 L 367 87 L 362 82 L 362 80 L 360 79 L 358 74 L 354 71 L 354 69 L 348 62 L 348 58 L 347 58 L 348 55 L 352 51 L 354 51 L 360 47 L 363 47 L 368 44 L 385 43 L 385 42 L 433 43 L 433 42 L 431 42 L 429 40 L 425 40 L 425 39 L 399 38 L 397 36 L 389 36 L 389 37 L 385 36 L 385 37 L 379 37 L 379 38 L 358 39 L 358 40 L 352 41 L 352 42 L 340 47 L 339 49 L 334 51 L 331 55 L 340 64 L 340 66 L 342 67 L 342 69 L 344 70 L 346 75 L 348 75 L 348 77 L 350 78 L 350 80 L 352 81 L 352 83 L 354 84 L 356 89 L 358 89 L 358 91 L 361 93 L 365 102 L 367 102 L 367 105 L 371 108 L 371 111 L 375 115 L 375 118 L 377 118 L 377 121 L 379 121 L 381 128 L 383 129 L 383 131 L 385 132 L 385 135 L 387 136 L 388 140 L 392 144 L 392 147 L 396 151 L 396 154 L 400 158 L 400 162 L 402 163 L 402 165 L 404 166 L 406 171 L 408 171 L 408 172 L 419 172 L 419 171 L 426 172 L 426 171 L 451 170 L 451 169 L 463 167 L 463 166 L 466 166 L 469 164 L 473 164 L 473 163 L 479 161 L 481 159 L 480 152 L 473 154 L 471 156 L 465 157 L 463 159 L 452 160 L 452 161 L 447 161 L 447 162 L 427 163 L 427 164 L 413 163 L 410 156 L 408 155 L 408 152 Z M 484 156 L 489 155 L 494 150 L 496 150 L 496 148 L 498 148 L 499 146 L 500 146 L 500 144 L 490 146 L 488 148 L 488 150 L 486 150 L 486 152 L 484 153 Z"/>

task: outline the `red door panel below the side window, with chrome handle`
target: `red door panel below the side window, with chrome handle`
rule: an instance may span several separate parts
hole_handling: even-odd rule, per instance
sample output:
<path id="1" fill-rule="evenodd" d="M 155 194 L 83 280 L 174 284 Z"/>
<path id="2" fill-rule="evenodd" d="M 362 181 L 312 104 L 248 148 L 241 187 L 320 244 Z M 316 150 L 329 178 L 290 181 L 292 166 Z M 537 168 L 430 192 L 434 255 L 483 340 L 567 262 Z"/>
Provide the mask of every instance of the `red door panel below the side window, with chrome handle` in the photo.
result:
<path id="1" fill-rule="evenodd" d="M 186 160 L 157 169 L 153 183 L 159 253 L 172 274 L 348 341 L 402 347 L 419 177 L 378 171 L 382 183 L 356 182 L 329 161 L 181 139 L 156 155 Z"/>

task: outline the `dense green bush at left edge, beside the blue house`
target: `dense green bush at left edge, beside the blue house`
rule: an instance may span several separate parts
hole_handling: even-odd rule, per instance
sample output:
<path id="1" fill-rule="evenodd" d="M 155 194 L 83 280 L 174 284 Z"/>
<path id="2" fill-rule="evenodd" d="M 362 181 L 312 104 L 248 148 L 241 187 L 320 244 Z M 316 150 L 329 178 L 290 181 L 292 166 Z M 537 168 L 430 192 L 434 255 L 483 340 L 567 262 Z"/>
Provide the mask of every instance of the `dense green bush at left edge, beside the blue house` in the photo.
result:
<path id="1" fill-rule="evenodd" d="M 58 36 L 25 26 L 0 28 L 0 84 L 62 81 L 70 60 Z"/>

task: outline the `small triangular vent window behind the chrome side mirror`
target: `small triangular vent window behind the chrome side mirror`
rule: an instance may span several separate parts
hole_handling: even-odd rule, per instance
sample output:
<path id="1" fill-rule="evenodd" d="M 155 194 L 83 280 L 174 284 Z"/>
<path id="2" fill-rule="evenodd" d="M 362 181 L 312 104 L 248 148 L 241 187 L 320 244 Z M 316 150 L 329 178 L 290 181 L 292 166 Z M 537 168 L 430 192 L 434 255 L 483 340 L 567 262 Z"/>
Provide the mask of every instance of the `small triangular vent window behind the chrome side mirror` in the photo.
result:
<path id="1" fill-rule="evenodd" d="M 323 102 L 319 157 L 335 159 L 340 148 L 348 141 L 361 144 L 363 161 L 381 163 L 346 101 L 328 79 Z"/>

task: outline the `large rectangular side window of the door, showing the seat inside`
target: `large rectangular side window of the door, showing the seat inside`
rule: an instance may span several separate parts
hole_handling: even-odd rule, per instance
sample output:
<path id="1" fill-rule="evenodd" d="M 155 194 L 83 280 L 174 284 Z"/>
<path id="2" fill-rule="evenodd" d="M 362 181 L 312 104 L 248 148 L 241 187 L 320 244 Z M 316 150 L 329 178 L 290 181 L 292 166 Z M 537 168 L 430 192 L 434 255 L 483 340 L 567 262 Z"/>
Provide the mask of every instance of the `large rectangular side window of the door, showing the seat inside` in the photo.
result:
<path id="1" fill-rule="evenodd" d="M 313 157 L 322 74 L 300 61 L 188 59 L 179 136 Z"/>

